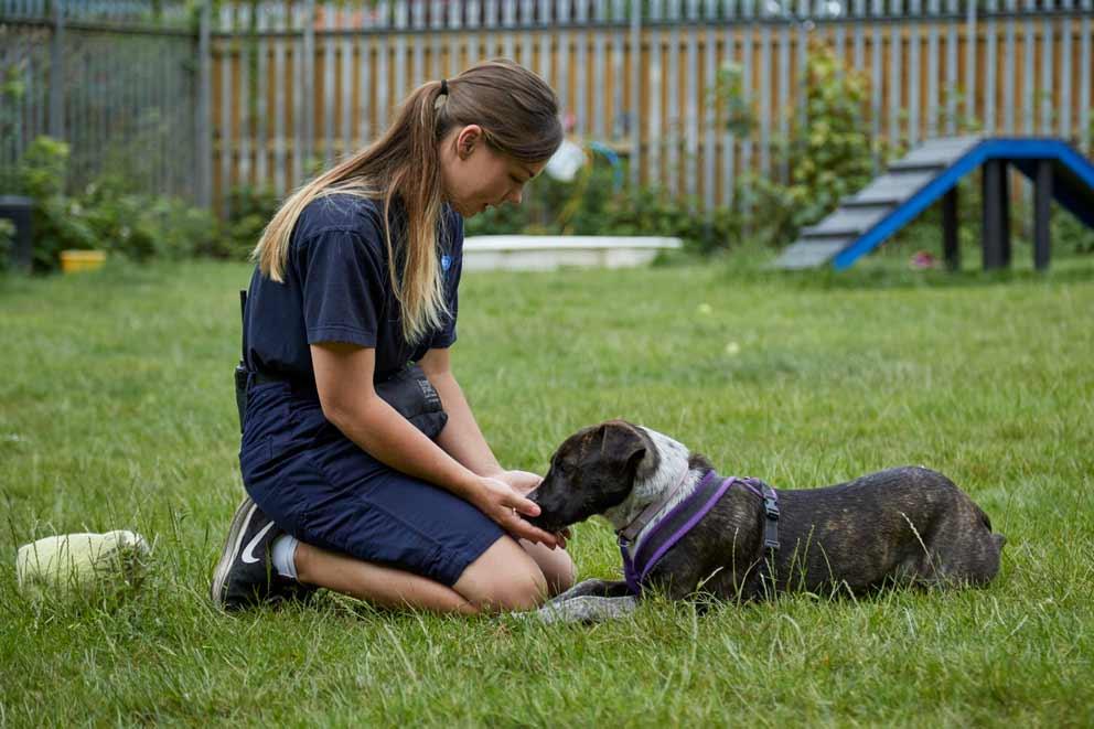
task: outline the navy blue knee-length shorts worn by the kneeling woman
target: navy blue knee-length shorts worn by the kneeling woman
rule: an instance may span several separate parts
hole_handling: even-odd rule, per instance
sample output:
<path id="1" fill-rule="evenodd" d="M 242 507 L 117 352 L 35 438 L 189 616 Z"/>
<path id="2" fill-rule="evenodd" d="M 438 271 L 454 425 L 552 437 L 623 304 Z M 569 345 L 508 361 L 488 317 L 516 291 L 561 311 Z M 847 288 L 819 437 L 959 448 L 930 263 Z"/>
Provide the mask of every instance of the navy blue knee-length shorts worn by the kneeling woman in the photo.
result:
<path id="1" fill-rule="evenodd" d="M 314 389 L 265 383 L 247 400 L 244 486 L 301 542 L 451 587 L 505 534 L 459 496 L 362 450 L 323 417 Z"/>

